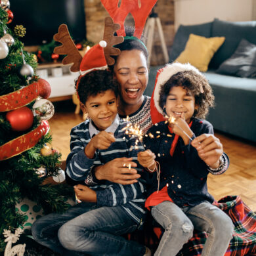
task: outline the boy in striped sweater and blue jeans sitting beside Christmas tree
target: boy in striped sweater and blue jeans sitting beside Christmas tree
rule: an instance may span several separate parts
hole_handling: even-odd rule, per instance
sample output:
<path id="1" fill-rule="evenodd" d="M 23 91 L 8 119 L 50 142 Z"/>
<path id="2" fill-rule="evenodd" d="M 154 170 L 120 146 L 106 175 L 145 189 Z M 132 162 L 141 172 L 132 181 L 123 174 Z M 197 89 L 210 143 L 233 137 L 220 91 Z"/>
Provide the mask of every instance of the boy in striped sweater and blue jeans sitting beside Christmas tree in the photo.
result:
<path id="1" fill-rule="evenodd" d="M 129 175 L 137 167 L 138 152 L 144 150 L 140 142 L 135 147 L 137 138 L 125 133 L 127 123 L 117 115 L 118 88 L 112 73 L 105 63 L 98 66 L 77 80 L 81 109 L 89 119 L 72 129 L 66 165 L 66 181 L 80 183 L 74 188 L 81 203 L 66 213 L 41 217 L 33 224 L 32 234 L 60 255 L 151 255 L 144 245 L 121 237 L 144 222 L 142 179 L 128 185 L 109 181 L 90 188 L 84 185 L 91 184 L 87 177 L 93 167 L 116 158 L 123 159 L 123 172 Z"/>

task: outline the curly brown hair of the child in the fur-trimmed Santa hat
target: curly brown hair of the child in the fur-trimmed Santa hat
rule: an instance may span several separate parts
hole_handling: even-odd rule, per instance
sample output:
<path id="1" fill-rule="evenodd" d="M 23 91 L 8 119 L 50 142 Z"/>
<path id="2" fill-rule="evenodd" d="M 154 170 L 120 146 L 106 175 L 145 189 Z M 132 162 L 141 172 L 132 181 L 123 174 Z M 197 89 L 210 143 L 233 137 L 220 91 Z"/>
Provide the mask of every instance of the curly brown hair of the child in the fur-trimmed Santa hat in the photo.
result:
<path id="1" fill-rule="evenodd" d="M 183 89 L 189 90 L 195 97 L 195 104 L 198 109 L 195 110 L 193 116 L 205 118 L 209 112 L 209 108 L 214 106 L 214 96 L 211 86 L 202 74 L 196 72 L 184 71 L 172 75 L 169 80 L 162 85 L 160 91 L 160 107 L 163 109 L 166 103 L 167 95 L 172 87 L 182 86 Z M 201 92 L 203 89 L 203 93 Z"/>

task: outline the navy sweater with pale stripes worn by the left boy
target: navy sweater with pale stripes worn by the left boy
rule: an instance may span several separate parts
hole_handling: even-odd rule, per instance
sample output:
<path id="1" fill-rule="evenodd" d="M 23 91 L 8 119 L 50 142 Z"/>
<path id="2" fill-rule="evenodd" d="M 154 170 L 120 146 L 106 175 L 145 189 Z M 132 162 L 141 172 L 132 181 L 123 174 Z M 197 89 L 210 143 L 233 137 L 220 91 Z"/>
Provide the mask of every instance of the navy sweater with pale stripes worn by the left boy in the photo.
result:
<path id="1" fill-rule="evenodd" d="M 67 158 L 66 175 L 74 181 L 90 184 L 90 188 L 96 192 L 99 207 L 121 205 L 137 223 L 143 222 L 146 211 L 144 210 L 145 185 L 142 179 L 129 185 L 109 181 L 96 184 L 93 181 L 87 181 L 88 177 L 91 177 L 91 169 L 96 165 L 103 165 L 108 161 L 123 157 L 133 158 L 133 161 L 137 162 L 138 152 L 144 150 L 142 143 L 139 142 L 135 147 L 137 138 L 125 134 L 124 128 L 127 123 L 123 119 L 119 119 L 117 128 L 114 127 L 116 129 L 113 131 L 116 141 L 106 150 L 96 150 L 95 158 L 89 159 L 85 156 L 84 150 L 91 140 L 90 123 L 91 120 L 87 119 L 74 127 L 70 133 L 71 152 Z M 137 171 L 140 173 L 142 168 L 139 167 L 139 163 L 137 165 Z"/>

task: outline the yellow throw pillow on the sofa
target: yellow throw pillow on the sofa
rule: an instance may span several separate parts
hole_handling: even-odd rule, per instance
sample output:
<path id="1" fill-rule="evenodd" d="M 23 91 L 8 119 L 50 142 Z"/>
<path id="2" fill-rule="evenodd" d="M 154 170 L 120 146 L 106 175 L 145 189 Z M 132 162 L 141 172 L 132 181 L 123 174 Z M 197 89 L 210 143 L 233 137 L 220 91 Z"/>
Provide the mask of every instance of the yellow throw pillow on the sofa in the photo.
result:
<path id="1" fill-rule="evenodd" d="M 213 54 L 224 43 L 225 37 L 202 37 L 190 33 L 184 51 L 175 60 L 186 64 L 189 62 L 192 66 L 202 72 L 206 72 Z"/>

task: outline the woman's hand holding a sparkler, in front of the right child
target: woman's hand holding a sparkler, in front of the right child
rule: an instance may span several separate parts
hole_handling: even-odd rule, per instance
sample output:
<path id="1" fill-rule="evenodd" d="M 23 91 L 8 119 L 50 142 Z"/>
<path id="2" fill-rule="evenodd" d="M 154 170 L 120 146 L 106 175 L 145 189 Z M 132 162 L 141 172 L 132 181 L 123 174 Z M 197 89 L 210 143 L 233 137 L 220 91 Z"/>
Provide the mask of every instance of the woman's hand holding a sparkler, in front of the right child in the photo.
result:
<path id="1" fill-rule="evenodd" d="M 211 168 L 217 168 L 220 165 L 220 158 L 223 154 L 223 144 L 211 134 L 202 134 L 192 140 L 192 146 L 198 150 L 198 156 Z"/>

